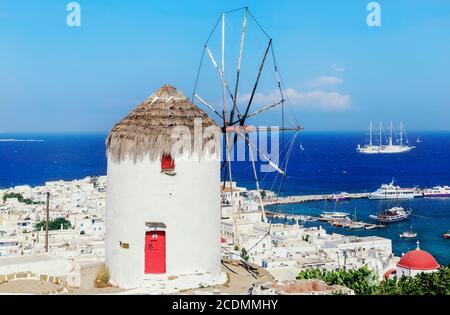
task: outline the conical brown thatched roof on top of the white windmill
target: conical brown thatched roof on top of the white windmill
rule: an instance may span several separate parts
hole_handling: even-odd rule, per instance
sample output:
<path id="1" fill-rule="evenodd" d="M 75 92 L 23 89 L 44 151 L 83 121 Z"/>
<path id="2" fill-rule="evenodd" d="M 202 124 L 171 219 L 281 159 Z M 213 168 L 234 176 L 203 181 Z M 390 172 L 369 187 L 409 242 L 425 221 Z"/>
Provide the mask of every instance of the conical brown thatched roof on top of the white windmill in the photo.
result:
<path id="1" fill-rule="evenodd" d="M 164 85 L 139 104 L 110 131 L 106 146 L 114 161 L 159 160 L 188 154 L 201 158 L 206 151 L 220 156 L 220 128 L 180 91 Z"/>

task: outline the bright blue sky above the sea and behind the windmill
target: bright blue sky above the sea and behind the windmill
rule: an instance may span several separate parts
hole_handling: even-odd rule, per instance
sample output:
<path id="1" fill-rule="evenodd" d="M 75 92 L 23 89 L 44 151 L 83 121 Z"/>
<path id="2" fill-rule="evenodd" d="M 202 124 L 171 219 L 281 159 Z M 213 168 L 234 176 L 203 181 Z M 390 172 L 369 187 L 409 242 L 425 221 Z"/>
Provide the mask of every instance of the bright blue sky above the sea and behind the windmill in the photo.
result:
<path id="1" fill-rule="evenodd" d="M 220 12 L 242 6 L 273 38 L 289 118 L 307 130 L 364 130 L 369 120 L 450 129 L 449 1 L 378 1 L 377 28 L 363 0 L 79 0 L 79 28 L 66 25 L 69 2 L 0 0 L 1 132 L 107 131 L 164 83 L 190 96 Z M 255 76 L 249 66 L 242 96 Z M 215 104 L 218 82 L 201 80 Z M 255 106 L 275 90 L 264 83 Z M 279 123 L 273 113 L 255 123 Z"/>

